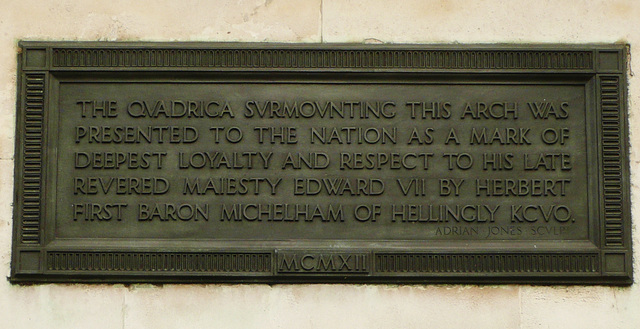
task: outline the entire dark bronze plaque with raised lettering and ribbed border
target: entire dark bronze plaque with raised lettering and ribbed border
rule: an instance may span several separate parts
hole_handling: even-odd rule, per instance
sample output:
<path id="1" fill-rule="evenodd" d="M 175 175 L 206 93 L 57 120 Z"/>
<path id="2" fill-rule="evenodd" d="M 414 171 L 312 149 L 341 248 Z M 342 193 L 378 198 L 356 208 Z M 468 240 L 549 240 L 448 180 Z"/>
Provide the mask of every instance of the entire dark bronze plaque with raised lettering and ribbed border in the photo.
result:
<path id="1" fill-rule="evenodd" d="M 622 45 L 21 48 L 13 282 L 631 283 Z"/>

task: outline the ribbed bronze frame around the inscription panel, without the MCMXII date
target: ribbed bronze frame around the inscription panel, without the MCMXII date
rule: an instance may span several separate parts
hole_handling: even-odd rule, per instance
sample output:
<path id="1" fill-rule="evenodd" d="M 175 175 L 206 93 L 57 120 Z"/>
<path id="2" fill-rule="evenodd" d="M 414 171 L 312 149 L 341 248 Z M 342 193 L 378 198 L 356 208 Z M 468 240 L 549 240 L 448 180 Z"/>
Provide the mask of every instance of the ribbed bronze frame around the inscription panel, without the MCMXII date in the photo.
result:
<path id="1" fill-rule="evenodd" d="M 10 280 L 153 283 L 632 283 L 625 45 L 338 45 L 146 42 L 20 43 Z M 47 120 L 56 75 L 112 72 L 200 74 L 279 72 L 543 75 L 585 77 L 596 111 L 599 218 L 593 247 L 553 250 L 228 248 L 149 250 L 86 243 L 48 245 Z M 357 274 L 278 271 L 280 257 L 313 253 L 360 257 Z"/>

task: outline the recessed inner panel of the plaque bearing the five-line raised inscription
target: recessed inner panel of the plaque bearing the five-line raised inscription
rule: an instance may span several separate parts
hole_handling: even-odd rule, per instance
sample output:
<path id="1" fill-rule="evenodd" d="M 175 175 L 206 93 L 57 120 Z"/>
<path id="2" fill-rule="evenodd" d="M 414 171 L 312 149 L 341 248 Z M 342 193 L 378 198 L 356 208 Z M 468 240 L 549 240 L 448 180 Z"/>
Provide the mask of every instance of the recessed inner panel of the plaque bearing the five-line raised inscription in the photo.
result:
<path id="1" fill-rule="evenodd" d="M 588 238 L 580 84 L 259 82 L 61 82 L 59 236 Z"/>

